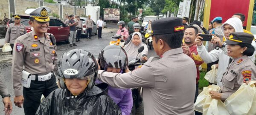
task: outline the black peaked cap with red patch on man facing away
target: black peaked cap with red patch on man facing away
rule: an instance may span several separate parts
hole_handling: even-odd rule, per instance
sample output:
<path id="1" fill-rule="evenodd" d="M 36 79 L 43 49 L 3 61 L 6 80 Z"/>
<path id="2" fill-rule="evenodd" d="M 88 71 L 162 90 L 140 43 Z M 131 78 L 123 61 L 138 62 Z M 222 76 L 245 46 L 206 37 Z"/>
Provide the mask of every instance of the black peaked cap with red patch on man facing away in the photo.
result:
<path id="1" fill-rule="evenodd" d="M 182 18 L 180 17 L 167 17 L 160 20 L 152 21 L 151 32 L 145 35 L 148 38 L 152 35 L 164 35 L 183 32 L 184 26 L 182 25 Z"/>

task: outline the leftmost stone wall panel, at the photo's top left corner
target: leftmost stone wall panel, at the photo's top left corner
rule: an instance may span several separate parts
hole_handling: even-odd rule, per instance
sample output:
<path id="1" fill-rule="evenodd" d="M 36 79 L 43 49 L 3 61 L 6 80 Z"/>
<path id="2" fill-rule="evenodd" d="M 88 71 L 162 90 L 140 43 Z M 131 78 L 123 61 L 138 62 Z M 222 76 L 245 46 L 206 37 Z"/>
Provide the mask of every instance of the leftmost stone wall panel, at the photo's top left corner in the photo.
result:
<path id="1" fill-rule="evenodd" d="M 0 3 L 0 19 L 3 20 L 4 18 L 4 13 L 6 13 L 6 17 L 9 18 L 9 2 L 8 0 L 1 0 Z"/>

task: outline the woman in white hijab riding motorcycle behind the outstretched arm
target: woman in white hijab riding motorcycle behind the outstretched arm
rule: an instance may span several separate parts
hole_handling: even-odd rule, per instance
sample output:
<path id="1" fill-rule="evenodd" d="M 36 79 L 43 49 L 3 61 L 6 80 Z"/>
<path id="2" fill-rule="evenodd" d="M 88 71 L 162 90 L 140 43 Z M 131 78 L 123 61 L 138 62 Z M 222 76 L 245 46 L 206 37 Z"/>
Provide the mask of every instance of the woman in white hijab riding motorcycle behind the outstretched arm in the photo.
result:
<path id="1" fill-rule="evenodd" d="M 131 61 L 133 59 L 140 59 L 140 60 L 148 60 L 148 47 L 146 44 L 142 42 L 142 36 L 140 32 L 134 32 L 131 41 L 125 45 L 124 49 L 128 56 L 128 61 Z M 138 55 L 138 49 L 144 46 L 144 50 L 139 53 Z M 138 55 L 138 56 L 137 56 Z M 136 57 L 137 56 L 137 57 Z"/>

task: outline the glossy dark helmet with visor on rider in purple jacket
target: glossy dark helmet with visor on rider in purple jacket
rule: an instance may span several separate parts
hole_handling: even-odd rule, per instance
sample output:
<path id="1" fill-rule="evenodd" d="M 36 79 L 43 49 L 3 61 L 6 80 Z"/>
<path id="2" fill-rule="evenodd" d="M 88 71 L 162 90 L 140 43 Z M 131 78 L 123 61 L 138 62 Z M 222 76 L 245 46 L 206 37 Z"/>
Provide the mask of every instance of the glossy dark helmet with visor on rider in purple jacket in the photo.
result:
<path id="1" fill-rule="evenodd" d="M 99 53 L 99 66 L 101 70 L 107 70 L 108 67 L 120 68 L 124 73 L 128 67 L 128 58 L 125 50 L 116 45 L 106 46 Z"/>

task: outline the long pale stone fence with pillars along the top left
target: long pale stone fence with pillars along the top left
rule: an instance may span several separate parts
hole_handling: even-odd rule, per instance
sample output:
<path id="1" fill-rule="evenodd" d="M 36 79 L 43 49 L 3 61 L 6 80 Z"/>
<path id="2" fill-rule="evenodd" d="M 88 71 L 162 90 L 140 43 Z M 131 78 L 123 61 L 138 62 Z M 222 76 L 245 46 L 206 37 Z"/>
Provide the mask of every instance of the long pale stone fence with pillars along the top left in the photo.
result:
<path id="1" fill-rule="evenodd" d="M 12 14 L 25 14 L 26 9 L 47 6 L 52 9 L 52 13 L 57 14 L 60 19 L 65 17 L 65 13 L 85 15 L 85 8 L 76 8 L 75 6 L 65 6 L 59 3 L 46 3 L 44 0 L 1 0 L 0 2 L 0 19 L 3 20 L 4 14 L 10 18 Z"/>

